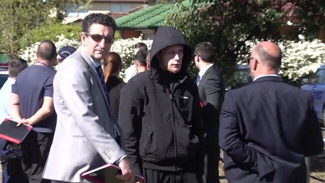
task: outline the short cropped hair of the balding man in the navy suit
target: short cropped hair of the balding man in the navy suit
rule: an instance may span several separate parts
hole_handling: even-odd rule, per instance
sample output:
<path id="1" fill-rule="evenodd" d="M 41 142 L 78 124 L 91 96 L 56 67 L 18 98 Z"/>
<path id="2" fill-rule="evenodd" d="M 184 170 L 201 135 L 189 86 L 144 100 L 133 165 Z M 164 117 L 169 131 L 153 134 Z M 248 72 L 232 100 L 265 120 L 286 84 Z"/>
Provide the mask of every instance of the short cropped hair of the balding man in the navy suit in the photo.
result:
<path id="1" fill-rule="evenodd" d="M 262 45 L 256 45 L 255 46 L 255 51 L 259 57 L 259 61 L 261 61 L 264 64 L 267 64 L 269 67 L 273 69 L 279 69 L 281 66 L 281 50 L 279 50 L 279 55 L 278 56 L 272 56 L 269 54 L 264 46 Z"/>

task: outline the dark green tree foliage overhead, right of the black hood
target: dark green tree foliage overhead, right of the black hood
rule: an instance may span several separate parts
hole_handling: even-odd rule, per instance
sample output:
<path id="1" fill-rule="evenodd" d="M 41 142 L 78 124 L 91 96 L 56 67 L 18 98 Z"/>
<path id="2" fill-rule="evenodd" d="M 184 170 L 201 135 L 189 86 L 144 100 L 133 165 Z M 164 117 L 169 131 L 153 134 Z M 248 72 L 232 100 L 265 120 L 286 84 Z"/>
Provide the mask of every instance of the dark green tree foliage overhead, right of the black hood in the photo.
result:
<path id="1" fill-rule="evenodd" d="M 166 24 L 180 30 L 192 46 L 201 41 L 212 42 L 215 62 L 229 77 L 236 69 L 237 58 L 248 56 L 250 47 L 245 41 L 281 40 L 279 28 L 290 19 L 299 33 L 313 38 L 314 32 L 324 25 L 319 18 L 325 14 L 324 3 L 324 0 L 191 0 L 187 7 L 179 3 L 181 10 L 169 14 Z"/>

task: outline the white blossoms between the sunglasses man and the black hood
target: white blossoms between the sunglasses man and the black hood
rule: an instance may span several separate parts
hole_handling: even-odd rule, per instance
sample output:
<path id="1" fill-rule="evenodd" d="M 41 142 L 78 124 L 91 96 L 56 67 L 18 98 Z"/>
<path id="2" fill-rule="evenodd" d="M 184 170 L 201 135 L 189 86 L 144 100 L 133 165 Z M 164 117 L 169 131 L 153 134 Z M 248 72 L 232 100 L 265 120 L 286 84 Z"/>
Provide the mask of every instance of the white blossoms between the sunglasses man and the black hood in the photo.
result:
<path id="1" fill-rule="evenodd" d="M 131 64 L 133 64 L 134 45 L 138 42 L 143 42 L 147 45 L 148 50 L 151 49 L 152 40 L 143 40 L 142 34 L 137 38 L 118 39 L 112 44 L 110 51 L 117 52 L 121 57 L 123 68 L 120 71 L 119 76 L 124 79 L 124 71 Z"/>

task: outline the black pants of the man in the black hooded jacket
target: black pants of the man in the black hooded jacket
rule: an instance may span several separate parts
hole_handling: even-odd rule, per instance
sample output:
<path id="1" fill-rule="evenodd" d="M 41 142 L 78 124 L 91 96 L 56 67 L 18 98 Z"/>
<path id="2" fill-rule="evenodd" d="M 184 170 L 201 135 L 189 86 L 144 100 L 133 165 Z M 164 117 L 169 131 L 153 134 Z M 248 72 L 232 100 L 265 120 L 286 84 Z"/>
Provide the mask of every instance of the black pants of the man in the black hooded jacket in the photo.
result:
<path id="1" fill-rule="evenodd" d="M 201 183 L 200 175 L 185 171 L 161 171 L 143 168 L 143 183 Z"/>

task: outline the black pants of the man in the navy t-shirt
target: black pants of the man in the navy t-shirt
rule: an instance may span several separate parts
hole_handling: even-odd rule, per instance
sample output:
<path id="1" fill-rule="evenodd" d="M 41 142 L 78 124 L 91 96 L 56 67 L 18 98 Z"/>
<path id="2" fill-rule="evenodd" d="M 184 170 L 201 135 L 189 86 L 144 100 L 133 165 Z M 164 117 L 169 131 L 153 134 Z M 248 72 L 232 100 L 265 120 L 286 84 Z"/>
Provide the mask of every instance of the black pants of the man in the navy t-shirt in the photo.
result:
<path id="1" fill-rule="evenodd" d="M 50 183 L 42 179 L 42 173 L 53 141 L 53 133 L 42 133 L 31 130 L 21 143 L 22 169 L 29 183 Z"/>

